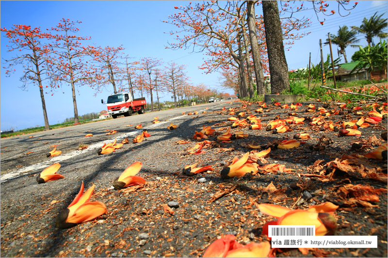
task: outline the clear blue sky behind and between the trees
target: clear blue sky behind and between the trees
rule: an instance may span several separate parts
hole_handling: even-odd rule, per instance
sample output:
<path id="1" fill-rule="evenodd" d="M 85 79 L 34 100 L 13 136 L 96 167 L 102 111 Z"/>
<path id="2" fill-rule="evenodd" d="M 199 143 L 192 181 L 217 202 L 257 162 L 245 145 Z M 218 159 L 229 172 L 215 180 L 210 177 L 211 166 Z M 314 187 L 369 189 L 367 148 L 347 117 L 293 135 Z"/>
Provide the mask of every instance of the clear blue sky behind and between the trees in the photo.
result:
<path id="1" fill-rule="evenodd" d="M 195 1 L 193 1 L 195 2 Z M 354 1 L 351 1 L 354 2 Z M 334 5 L 334 2 L 329 1 Z M 55 27 L 62 18 L 80 20 L 78 26 L 79 36 L 91 36 L 90 44 L 97 46 L 120 46 L 125 47 L 125 53 L 133 60 L 144 57 L 162 59 L 163 62 L 175 61 L 178 64 L 187 65 L 187 75 L 194 85 L 203 83 L 210 88 L 233 93 L 219 87 L 219 75 L 213 73 L 205 75 L 197 67 L 201 66 L 203 59 L 201 53 L 190 53 L 189 50 L 165 49 L 167 42 L 173 42 L 170 30 L 175 28 L 163 23 L 168 15 L 175 13 L 174 6 L 187 4 L 186 1 L 1 1 L 0 2 L 0 26 L 11 28 L 13 24 L 25 24 L 32 27 L 46 28 Z M 308 2 L 305 3 L 309 4 Z M 337 9 L 334 9 L 337 11 Z M 322 26 L 312 12 L 306 11 L 304 16 L 312 20 L 312 25 L 306 31 L 311 33 L 295 41 L 286 58 L 289 69 L 306 67 L 309 52 L 311 62 L 316 64 L 320 61 L 319 39 L 324 42 L 327 32 L 336 34 L 339 26 L 360 26 L 364 17 L 369 18 L 375 12 L 387 15 L 387 1 L 358 1 L 351 14 L 340 17 L 338 14 L 326 17 Z M 261 8 L 256 8 L 256 13 L 261 14 Z M 338 13 L 338 12 L 337 12 Z M 365 46 L 366 41 L 362 35 L 360 45 Z M 375 41 L 378 41 L 375 39 Z M 31 86 L 28 91 L 22 91 L 19 86 L 20 74 L 17 72 L 10 77 L 4 75 L 4 59 L 13 57 L 7 53 L 8 40 L 1 33 L 1 77 L 0 77 L 0 127 L 2 131 L 24 129 L 36 125 L 44 125 L 42 104 L 39 91 L 36 86 Z M 348 60 L 356 48 L 348 47 L 346 53 Z M 337 46 L 333 46 L 334 58 L 337 58 Z M 329 53 L 329 46 L 323 46 L 323 55 Z M 62 122 L 65 118 L 73 117 L 71 88 L 63 86 L 62 91 L 45 94 L 49 123 Z M 109 87 L 108 87 L 109 89 Z M 110 89 L 109 89 L 110 90 Z M 106 99 L 112 91 L 103 91 L 95 96 L 95 91 L 89 87 L 78 88 L 77 105 L 79 115 L 99 112 L 106 109 L 100 100 Z M 170 93 L 162 94 L 161 101 L 171 100 Z M 136 97 L 136 95 L 135 95 Z M 137 96 L 139 97 L 139 96 Z M 155 99 L 155 98 L 154 98 Z M 147 98 L 149 102 L 149 97 Z"/>

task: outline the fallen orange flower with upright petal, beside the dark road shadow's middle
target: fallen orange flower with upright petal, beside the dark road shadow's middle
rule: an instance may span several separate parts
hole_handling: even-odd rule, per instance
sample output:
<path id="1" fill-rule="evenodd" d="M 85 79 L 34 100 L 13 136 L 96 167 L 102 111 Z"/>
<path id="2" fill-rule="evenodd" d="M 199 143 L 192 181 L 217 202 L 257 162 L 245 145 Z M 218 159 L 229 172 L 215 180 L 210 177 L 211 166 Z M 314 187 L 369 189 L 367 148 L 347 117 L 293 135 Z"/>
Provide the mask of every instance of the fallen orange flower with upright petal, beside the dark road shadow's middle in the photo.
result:
<path id="1" fill-rule="evenodd" d="M 140 161 L 132 163 L 124 172 L 113 181 L 113 187 L 116 190 L 123 189 L 131 185 L 146 184 L 146 180 L 142 177 L 136 176 L 142 169 L 143 164 Z"/>

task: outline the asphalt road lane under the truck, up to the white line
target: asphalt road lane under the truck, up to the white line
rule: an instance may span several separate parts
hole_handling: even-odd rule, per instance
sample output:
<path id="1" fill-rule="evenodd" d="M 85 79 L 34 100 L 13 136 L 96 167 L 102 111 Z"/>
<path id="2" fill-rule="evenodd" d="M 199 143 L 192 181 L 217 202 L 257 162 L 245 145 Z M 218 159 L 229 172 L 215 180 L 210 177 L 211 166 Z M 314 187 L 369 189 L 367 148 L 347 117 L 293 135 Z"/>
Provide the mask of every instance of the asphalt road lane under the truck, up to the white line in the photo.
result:
<path id="1" fill-rule="evenodd" d="M 230 101 L 208 103 L 198 106 L 181 107 L 176 109 L 149 112 L 142 115 L 130 117 L 121 116 L 117 119 L 92 122 L 77 126 L 54 129 L 18 137 L 1 139 L 1 182 L 12 180 L 15 177 L 35 173 L 36 169 L 48 167 L 54 162 L 77 160 L 79 155 L 92 152 L 97 153 L 104 143 L 112 142 L 114 138 L 121 141 L 125 137 L 129 140 L 139 135 L 143 129 L 135 129 L 135 125 L 142 124 L 144 129 L 166 128 L 174 121 L 186 121 L 191 117 L 186 115 L 189 112 L 198 111 L 201 115 L 205 108 L 211 110 L 220 109 Z M 185 112 L 184 115 L 182 113 Z M 159 117 L 158 124 L 152 124 L 153 118 Z M 129 126 L 130 125 L 130 126 Z M 106 135 L 105 130 L 117 130 L 114 135 Z M 84 137 L 86 134 L 93 134 L 93 137 Z M 85 150 L 77 151 L 80 144 L 88 145 Z M 130 143 L 132 144 L 132 143 Z M 62 154 L 56 157 L 47 158 L 46 153 L 58 145 L 57 150 Z M 96 152 L 96 153 L 95 153 Z"/>

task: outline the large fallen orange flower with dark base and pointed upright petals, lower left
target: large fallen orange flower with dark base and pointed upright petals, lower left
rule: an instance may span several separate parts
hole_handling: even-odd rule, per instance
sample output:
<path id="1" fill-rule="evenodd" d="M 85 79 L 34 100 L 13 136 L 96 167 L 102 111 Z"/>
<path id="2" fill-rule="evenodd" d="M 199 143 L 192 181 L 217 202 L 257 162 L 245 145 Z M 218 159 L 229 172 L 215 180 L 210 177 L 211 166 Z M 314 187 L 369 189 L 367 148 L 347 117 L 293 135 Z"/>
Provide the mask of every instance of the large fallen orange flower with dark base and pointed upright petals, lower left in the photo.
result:
<path id="1" fill-rule="evenodd" d="M 58 228 L 71 228 L 80 224 L 92 220 L 104 213 L 106 213 L 106 206 L 99 201 L 90 202 L 92 196 L 93 184 L 83 195 L 83 182 L 78 195 L 70 203 L 66 210 L 58 214 L 55 219 L 55 224 Z"/>

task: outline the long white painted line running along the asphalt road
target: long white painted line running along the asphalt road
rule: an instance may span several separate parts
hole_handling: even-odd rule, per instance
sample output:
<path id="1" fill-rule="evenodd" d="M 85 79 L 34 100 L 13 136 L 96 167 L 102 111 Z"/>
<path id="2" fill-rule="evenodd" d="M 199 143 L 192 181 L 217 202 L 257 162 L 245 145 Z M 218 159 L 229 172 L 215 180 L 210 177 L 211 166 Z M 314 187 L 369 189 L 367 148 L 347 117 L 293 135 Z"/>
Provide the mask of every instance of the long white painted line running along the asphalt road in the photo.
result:
<path id="1" fill-rule="evenodd" d="M 225 105 L 225 104 L 220 104 L 220 105 L 217 105 L 217 106 L 222 106 L 222 105 Z M 214 107 L 216 107 L 216 106 L 214 106 Z M 206 110 L 206 109 L 200 110 L 198 112 L 202 112 L 204 110 Z M 140 132 L 142 132 L 143 129 L 154 128 L 154 127 L 160 126 L 162 124 L 169 123 L 171 120 L 177 120 L 177 119 L 180 119 L 180 118 L 183 118 L 183 117 L 187 117 L 187 115 L 182 115 L 182 116 L 178 116 L 178 117 L 175 117 L 175 118 L 171 118 L 168 121 L 161 121 L 160 123 L 151 124 L 151 125 L 149 125 L 147 127 L 144 127 L 144 128 L 142 128 L 140 130 L 136 130 L 136 131 L 133 131 L 133 132 L 129 132 L 129 133 L 120 135 L 120 137 L 114 137 L 114 138 L 111 138 L 111 139 L 108 139 L 108 140 L 97 142 L 95 144 L 89 145 L 86 150 L 74 151 L 74 152 L 66 153 L 64 155 L 55 156 L 55 157 L 51 158 L 48 161 L 44 161 L 44 162 L 37 163 L 37 164 L 31 165 L 31 166 L 28 166 L 28 167 L 20 168 L 20 169 L 18 169 L 16 171 L 9 172 L 9 173 L 7 173 L 5 175 L 0 176 L 0 182 L 5 182 L 5 181 L 8 181 L 8 180 L 17 178 L 17 177 L 21 176 L 22 173 L 26 173 L 26 172 L 29 172 L 29 171 L 32 171 L 32 170 L 35 170 L 35 169 L 46 168 L 46 167 L 48 167 L 49 165 L 51 165 L 53 163 L 64 161 L 66 159 L 69 159 L 69 158 L 75 157 L 77 155 L 80 155 L 81 153 L 85 153 L 85 152 L 88 152 L 88 151 L 99 149 L 99 148 L 101 148 L 101 146 L 105 142 L 113 141 L 115 138 L 117 140 L 120 140 L 120 139 L 124 139 L 125 137 L 137 135 Z"/>

